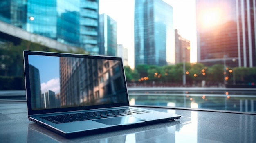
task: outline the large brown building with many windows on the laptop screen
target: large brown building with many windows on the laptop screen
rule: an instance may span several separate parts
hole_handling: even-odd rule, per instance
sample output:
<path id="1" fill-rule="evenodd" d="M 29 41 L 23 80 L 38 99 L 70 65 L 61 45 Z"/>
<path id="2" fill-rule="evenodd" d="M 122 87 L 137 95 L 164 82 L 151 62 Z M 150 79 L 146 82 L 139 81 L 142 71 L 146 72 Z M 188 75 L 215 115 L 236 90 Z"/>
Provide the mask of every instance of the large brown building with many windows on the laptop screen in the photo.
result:
<path id="1" fill-rule="evenodd" d="M 60 57 L 61 106 L 125 102 L 121 73 L 118 61 Z"/>

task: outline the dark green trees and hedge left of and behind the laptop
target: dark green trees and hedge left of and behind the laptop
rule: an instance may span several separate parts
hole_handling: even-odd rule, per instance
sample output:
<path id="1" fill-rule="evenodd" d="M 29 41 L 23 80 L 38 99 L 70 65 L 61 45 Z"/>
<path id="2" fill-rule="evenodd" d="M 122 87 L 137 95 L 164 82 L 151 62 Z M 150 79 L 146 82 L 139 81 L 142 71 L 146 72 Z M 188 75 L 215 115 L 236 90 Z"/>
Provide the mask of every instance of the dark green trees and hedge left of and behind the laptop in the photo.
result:
<path id="1" fill-rule="evenodd" d="M 23 51 L 49 51 L 60 52 L 53 48 L 48 48 L 42 43 L 33 43 L 26 40 L 21 40 L 20 44 L 14 45 L 11 42 L 0 44 L 0 76 L 2 90 L 24 90 L 24 66 L 23 66 Z M 69 51 L 69 53 L 86 54 L 83 49 Z M 21 80 L 22 79 L 22 80 Z"/>

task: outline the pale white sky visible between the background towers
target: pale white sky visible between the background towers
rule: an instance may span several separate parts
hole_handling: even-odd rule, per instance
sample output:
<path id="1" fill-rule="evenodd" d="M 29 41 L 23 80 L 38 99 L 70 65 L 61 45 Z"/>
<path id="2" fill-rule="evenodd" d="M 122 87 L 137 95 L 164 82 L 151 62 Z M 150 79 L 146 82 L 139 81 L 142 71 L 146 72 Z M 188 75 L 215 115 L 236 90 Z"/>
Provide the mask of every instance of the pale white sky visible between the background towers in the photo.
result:
<path id="1" fill-rule="evenodd" d="M 190 62 L 196 62 L 195 0 L 163 1 L 173 7 L 173 27 L 190 40 Z M 99 0 L 99 13 L 117 22 L 117 44 L 128 48 L 128 64 L 134 68 L 134 0 Z"/>

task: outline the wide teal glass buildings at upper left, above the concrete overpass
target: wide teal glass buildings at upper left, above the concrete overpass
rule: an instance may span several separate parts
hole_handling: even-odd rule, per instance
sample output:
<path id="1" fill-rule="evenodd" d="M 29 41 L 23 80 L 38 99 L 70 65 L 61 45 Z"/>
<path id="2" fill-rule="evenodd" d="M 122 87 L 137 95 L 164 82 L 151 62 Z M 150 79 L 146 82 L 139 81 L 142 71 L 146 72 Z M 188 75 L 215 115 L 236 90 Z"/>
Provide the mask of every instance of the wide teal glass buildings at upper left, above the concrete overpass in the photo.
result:
<path id="1" fill-rule="evenodd" d="M 98 0 L 1 0 L 0 20 L 99 54 Z"/>

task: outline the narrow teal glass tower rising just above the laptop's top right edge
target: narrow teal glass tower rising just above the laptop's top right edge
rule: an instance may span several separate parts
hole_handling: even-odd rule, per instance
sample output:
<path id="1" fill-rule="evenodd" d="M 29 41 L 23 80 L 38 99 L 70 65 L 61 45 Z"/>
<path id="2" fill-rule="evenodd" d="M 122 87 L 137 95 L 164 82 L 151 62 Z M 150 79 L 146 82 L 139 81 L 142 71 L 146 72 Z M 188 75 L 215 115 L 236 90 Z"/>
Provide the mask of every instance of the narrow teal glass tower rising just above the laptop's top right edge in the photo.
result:
<path id="1" fill-rule="evenodd" d="M 117 56 L 117 22 L 104 13 L 99 15 L 99 54 Z"/>

